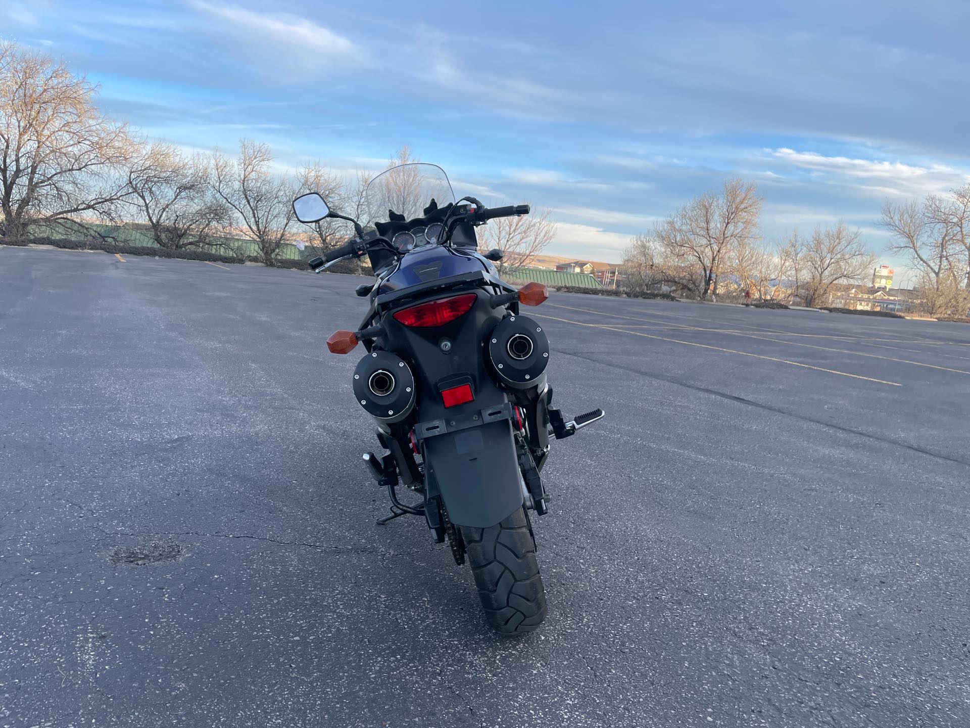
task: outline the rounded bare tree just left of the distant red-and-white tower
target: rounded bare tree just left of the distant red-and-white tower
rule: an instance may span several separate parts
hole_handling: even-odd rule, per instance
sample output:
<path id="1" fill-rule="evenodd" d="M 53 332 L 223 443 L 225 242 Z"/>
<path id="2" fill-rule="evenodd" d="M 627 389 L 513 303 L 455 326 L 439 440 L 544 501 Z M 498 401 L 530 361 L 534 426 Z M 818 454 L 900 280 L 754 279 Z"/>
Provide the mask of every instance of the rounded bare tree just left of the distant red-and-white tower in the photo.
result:
<path id="1" fill-rule="evenodd" d="M 839 222 L 816 228 L 798 259 L 802 271 L 800 294 L 806 306 L 821 306 L 837 283 L 863 281 L 872 271 L 876 256 L 862 242 L 861 233 L 850 232 Z"/>

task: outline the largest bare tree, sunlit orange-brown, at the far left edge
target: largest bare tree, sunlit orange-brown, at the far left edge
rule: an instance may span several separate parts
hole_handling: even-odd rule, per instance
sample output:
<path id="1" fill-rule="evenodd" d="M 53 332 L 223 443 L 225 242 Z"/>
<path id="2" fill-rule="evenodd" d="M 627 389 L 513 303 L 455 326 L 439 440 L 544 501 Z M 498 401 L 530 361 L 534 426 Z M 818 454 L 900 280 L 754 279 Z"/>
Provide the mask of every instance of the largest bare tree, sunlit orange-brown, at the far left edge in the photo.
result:
<path id="1" fill-rule="evenodd" d="M 108 215 L 125 196 L 119 171 L 137 144 L 97 110 L 96 90 L 62 62 L 0 42 L 0 232 Z"/>

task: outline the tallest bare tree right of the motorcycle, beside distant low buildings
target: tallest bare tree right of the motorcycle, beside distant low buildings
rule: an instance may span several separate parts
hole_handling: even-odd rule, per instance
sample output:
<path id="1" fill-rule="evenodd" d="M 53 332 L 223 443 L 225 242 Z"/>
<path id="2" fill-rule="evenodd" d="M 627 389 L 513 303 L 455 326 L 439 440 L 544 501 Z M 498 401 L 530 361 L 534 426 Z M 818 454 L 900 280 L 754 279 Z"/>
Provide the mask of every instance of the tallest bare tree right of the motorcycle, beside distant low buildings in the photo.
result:
<path id="1" fill-rule="evenodd" d="M 667 218 L 654 237 L 677 261 L 680 283 L 704 299 L 717 293 L 718 276 L 731 248 L 758 238 L 761 197 L 753 182 L 728 180 L 720 195 L 711 192 L 695 198 Z"/>

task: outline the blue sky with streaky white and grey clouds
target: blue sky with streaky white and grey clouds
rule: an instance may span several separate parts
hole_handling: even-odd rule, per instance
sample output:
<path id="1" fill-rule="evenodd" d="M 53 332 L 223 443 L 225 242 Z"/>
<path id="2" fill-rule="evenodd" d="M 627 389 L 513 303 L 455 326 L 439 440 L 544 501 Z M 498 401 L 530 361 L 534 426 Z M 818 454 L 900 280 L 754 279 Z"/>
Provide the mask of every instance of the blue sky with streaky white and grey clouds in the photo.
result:
<path id="1" fill-rule="evenodd" d="M 944 0 L 0 0 L 0 36 L 149 138 L 348 175 L 410 145 L 458 196 L 549 209 L 548 252 L 613 262 L 731 177 L 768 241 L 841 219 L 884 250 L 887 200 L 970 181 L 968 27 Z"/>

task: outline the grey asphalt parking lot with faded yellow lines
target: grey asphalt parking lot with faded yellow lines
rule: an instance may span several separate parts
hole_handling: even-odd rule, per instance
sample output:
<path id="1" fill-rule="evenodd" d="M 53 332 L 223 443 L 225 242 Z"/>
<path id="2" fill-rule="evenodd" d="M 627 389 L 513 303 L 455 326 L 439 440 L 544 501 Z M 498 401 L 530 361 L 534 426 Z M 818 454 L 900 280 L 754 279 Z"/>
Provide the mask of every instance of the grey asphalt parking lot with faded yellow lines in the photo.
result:
<path id="1" fill-rule="evenodd" d="M 510 641 L 374 523 L 359 282 L 0 248 L 0 726 L 970 724 L 970 326 L 552 294 Z"/>

